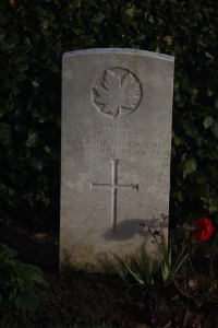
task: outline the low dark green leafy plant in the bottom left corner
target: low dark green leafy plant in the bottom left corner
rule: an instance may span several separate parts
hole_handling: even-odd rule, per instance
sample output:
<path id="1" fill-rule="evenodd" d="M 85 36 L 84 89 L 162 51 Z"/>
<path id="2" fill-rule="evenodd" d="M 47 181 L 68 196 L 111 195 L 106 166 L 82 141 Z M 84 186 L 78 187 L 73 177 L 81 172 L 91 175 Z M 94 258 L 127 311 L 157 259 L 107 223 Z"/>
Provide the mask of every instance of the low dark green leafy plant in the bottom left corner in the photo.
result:
<path id="1" fill-rule="evenodd" d="M 20 311 L 35 311 L 46 301 L 47 282 L 37 267 L 16 260 L 16 253 L 0 244 L 0 302 Z"/>

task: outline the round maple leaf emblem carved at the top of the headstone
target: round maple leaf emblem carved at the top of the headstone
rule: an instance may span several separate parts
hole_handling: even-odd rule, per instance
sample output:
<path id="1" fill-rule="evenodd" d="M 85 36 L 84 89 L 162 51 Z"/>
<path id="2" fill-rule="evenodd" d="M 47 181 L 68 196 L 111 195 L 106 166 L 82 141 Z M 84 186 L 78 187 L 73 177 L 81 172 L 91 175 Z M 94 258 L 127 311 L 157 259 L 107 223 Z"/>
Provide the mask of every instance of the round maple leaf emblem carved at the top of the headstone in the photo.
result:
<path id="1" fill-rule="evenodd" d="M 126 69 L 110 68 L 94 82 L 94 104 L 100 113 L 111 118 L 133 113 L 141 99 L 140 80 Z"/>

